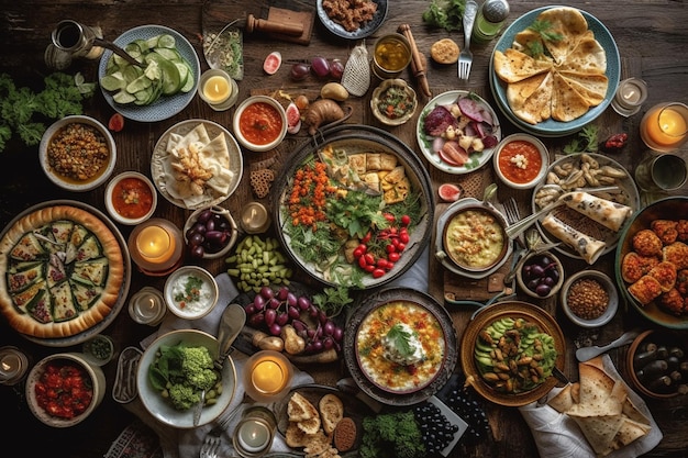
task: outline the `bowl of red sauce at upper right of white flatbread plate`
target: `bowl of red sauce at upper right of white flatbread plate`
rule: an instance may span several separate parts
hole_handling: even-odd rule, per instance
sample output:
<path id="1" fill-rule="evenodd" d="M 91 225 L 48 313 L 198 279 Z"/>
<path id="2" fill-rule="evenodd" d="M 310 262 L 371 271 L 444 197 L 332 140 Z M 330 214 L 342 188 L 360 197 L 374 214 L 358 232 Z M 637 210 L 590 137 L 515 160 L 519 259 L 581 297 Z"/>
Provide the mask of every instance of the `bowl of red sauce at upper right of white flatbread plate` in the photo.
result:
<path id="1" fill-rule="evenodd" d="M 287 135 L 287 113 L 271 97 L 252 96 L 234 112 L 234 136 L 247 149 L 274 149 Z"/>

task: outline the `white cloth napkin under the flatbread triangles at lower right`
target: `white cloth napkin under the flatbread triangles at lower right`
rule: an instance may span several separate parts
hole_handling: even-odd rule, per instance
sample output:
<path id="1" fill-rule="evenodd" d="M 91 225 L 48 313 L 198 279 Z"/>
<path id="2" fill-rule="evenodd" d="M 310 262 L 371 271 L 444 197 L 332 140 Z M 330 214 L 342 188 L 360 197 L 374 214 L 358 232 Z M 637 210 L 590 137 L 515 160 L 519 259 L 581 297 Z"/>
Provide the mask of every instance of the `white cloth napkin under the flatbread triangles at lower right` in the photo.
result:
<path id="1" fill-rule="evenodd" d="M 615 380 L 621 380 L 609 355 L 602 358 L 604 371 Z M 624 382 L 625 383 L 625 382 Z M 562 389 L 553 389 L 547 394 L 547 401 L 554 398 Z M 608 458 L 635 458 L 646 454 L 659 444 L 663 434 L 652 417 L 645 401 L 626 386 L 628 395 L 633 404 L 650 418 L 650 433 L 628 446 L 608 455 Z M 595 458 L 596 454 L 588 444 L 578 424 L 568 415 L 547 405 L 531 404 L 519 407 L 521 415 L 533 433 L 535 445 L 541 457 L 557 458 Z"/>

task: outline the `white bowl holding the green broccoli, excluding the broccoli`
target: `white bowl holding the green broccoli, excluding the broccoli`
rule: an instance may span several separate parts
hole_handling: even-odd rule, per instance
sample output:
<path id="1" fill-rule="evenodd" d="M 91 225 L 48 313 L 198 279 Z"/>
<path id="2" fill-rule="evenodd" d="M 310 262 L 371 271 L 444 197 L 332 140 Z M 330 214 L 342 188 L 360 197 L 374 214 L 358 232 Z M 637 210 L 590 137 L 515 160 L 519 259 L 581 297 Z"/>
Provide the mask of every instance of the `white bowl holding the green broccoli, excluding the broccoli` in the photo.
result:
<path id="1" fill-rule="evenodd" d="M 138 398 L 143 402 L 148 413 L 157 421 L 177 428 L 192 428 L 193 412 L 176 410 L 163 395 L 153 387 L 148 379 L 151 365 L 155 361 L 156 353 L 163 346 L 173 346 L 179 343 L 189 346 L 206 346 L 211 354 L 218 351 L 218 339 L 210 334 L 197 329 L 178 329 L 162 335 L 153 342 L 144 351 L 138 361 L 136 371 L 136 388 Z M 236 368 L 232 357 L 229 357 L 222 368 L 222 393 L 218 396 L 218 402 L 207 405 L 201 411 L 201 418 L 198 426 L 206 425 L 217 420 L 230 405 L 236 391 Z"/>

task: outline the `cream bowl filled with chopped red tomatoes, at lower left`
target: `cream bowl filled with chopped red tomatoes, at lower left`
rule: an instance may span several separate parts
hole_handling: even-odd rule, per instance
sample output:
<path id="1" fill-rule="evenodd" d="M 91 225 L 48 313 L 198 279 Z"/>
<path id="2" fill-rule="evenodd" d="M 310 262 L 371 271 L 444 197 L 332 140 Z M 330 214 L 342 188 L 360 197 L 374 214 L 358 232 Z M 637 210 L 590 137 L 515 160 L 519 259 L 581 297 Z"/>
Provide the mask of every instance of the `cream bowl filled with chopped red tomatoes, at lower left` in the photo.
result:
<path id="1" fill-rule="evenodd" d="M 26 403 L 42 423 L 70 427 L 100 405 L 107 383 L 102 369 L 82 354 L 60 353 L 40 360 L 26 378 Z"/>

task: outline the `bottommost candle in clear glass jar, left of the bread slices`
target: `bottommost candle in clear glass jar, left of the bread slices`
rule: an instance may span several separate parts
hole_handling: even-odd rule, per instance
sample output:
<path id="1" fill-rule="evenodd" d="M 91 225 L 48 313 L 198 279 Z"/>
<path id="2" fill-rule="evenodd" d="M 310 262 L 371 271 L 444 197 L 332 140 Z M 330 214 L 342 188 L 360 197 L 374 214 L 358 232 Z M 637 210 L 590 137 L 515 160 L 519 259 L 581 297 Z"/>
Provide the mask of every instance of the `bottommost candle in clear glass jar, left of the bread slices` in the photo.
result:
<path id="1" fill-rule="evenodd" d="M 246 407 L 232 435 L 234 449 L 243 458 L 262 457 L 270 450 L 276 428 L 277 418 L 269 409 Z"/>

